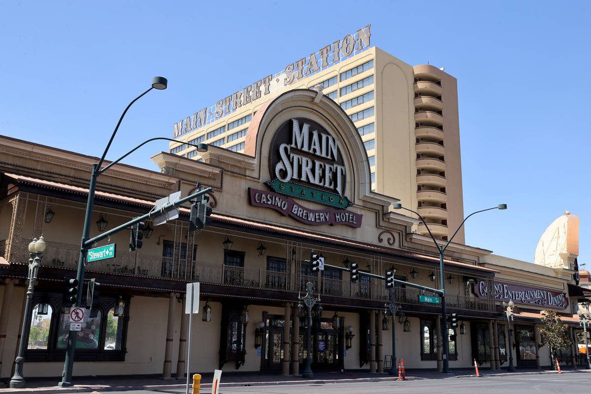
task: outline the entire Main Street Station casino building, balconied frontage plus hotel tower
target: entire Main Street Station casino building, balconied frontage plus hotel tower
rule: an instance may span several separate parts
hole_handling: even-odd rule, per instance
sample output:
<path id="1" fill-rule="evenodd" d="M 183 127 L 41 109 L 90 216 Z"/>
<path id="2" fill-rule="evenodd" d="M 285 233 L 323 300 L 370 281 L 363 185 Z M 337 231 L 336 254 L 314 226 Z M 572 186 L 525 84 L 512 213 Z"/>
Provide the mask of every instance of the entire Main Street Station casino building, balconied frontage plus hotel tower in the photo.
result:
<path id="1" fill-rule="evenodd" d="M 128 230 L 111 237 L 116 256 L 86 265 L 100 294 L 80 331 L 69 331 L 64 289 L 76 273 L 97 158 L 0 137 L 0 376 L 11 376 L 23 318 L 30 325 L 25 376 L 61 376 L 71 333 L 78 336 L 74 377 L 183 376 L 190 282 L 200 283 L 191 373 L 300 374 L 308 327 L 298 295 L 309 283 L 322 306 L 310 326 L 313 370 L 383 372 L 392 359 L 441 370 L 444 335 L 452 369 L 473 359 L 506 367 L 501 302 L 509 300 L 517 305 L 517 367 L 550 364 L 538 330 L 548 308 L 575 340 L 560 360 L 580 363 L 574 316 L 589 290 L 578 286 L 574 230 L 551 266 L 492 255 L 464 245 L 458 233 L 444 261 L 447 311 L 457 314 L 457 327 L 442 327 L 433 294 L 402 284 L 391 293 L 383 279 L 363 275 L 392 270 L 400 281 L 440 288 L 439 255 L 426 227 L 392 205 L 417 210 L 441 242 L 461 223 L 463 207 L 455 79 L 370 47 L 369 26 L 360 31 L 177 122 L 178 142 L 152 156 L 160 171 L 116 164 L 99 177 L 91 236 L 198 185 L 212 188 L 212 223 L 190 232 L 186 205 L 165 224 L 148 222 L 134 252 Z M 187 142 L 209 149 L 196 152 Z M 24 317 L 27 245 L 41 234 L 47 248 L 33 312 Z M 340 269 L 313 272 L 313 252 L 330 266 L 358 263 L 362 275 L 350 281 Z"/>

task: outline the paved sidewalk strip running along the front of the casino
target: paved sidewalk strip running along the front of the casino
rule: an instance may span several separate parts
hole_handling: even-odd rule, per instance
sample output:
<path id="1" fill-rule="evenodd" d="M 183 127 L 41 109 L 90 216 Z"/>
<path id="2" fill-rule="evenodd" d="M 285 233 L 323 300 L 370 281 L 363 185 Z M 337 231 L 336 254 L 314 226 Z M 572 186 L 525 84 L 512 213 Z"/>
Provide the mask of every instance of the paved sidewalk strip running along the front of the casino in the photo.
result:
<path id="1" fill-rule="evenodd" d="M 591 370 L 585 369 L 563 369 L 563 373 L 591 373 Z M 517 369 L 517 372 L 507 372 L 505 369 L 500 371 L 491 371 L 481 369 L 480 376 L 492 375 L 525 375 L 538 373 L 558 373 L 553 370 L 545 369 Z M 201 374 L 202 393 L 209 393 L 212 386 L 213 373 Z M 411 369 L 406 372 L 407 380 L 417 379 L 449 379 L 457 377 L 476 377 L 474 369 L 456 369 L 449 375 L 434 370 Z M 345 382 L 381 382 L 398 380 L 398 375 L 390 376 L 386 373 L 369 373 L 366 371 L 348 371 L 345 373 L 314 372 L 314 379 L 303 379 L 301 376 L 283 376 L 276 373 L 261 372 L 224 372 L 220 383 L 220 388 L 233 386 L 267 386 L 267 385 L 301 385 L 301 384 L 324 384 L 324 383 L 345 383 Z M 7 388 L 8 380 L 4 387 L 0 388 L 0 394 L 5 393 L 90 393 L 97 391 L 99 393 L 109 391 L 124 390 L 163 390 L 163 389 L 184 389 L 186 379 L 184 380 L 164 380 L 158 377 L 150 376 L 102 376 L 102 377 L 76 377 L 75 385 L 70 388 L 60 388 L 57 383 L 60 377 L 54 378 L 30 378 L 27 379 L 27 388 L 11 389 Z M 193 383 L 192 380 L 190 384 Z"/>

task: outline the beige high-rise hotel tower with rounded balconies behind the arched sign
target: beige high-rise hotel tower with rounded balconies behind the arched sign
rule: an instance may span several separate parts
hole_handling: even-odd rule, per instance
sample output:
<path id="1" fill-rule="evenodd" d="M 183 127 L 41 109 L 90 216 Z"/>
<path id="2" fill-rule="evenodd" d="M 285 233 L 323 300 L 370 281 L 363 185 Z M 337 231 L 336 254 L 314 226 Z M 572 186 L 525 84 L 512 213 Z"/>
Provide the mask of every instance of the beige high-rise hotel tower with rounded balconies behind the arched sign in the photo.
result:
<path id="1" fill-rule="evenodd" d="M 411 66 L 377 47 L 327 61 L 326 67 L 321 57 L 322 51 L 319 67 L 307 57 L 177 122 L 174 138 L 183 144 L 172 142 L 170 152 L 199 159 L 196 148 L 184 143 L 204 142 L 255 155 L 244 151 L 244 142 L 256 111 L 286 90 L 322 84 L 362 136 L 372 190 L 400 198 L 424 217 L 434 236 L 447 239 L 463 220 L 456 79 L 443 68 Z M 422 224 L 415 227 L 427 234 Z M 465 242 L 463 229 L 454 241 Z"/>

